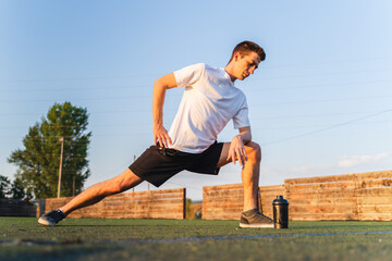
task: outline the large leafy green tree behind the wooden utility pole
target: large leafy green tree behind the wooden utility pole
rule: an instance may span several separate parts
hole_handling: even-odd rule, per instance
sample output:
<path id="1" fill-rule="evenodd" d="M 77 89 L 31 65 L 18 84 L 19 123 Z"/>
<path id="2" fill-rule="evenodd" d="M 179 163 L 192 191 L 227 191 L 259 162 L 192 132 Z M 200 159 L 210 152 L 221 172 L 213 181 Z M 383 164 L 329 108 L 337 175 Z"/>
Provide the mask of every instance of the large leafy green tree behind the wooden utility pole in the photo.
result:
<path id="1" fill-rule="evenodd" d="M 73 107 L 70 102 L 54 103 L 41 123 L 29 127 L 23 138 L 24 149 L 13 151 L 8 159 L 19 166 L 15 178 L 36 198 L 57 197 L 61 142 L 63 160 L 61 196 L 81 192 L 90 175 L 87 149 L 91 133 L 87 132 L 87 109 Z"/>

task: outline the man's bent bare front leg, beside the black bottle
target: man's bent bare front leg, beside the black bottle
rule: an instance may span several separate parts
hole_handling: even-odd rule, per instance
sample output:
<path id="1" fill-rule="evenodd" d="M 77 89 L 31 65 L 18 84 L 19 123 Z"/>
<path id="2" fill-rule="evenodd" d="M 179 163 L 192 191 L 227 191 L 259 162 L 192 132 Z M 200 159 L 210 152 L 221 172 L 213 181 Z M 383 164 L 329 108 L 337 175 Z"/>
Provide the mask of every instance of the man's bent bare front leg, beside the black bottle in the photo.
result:
<path id="1" fill-rule="evenodd" d="M 222 152 L 219 158 L 218 167 L 221 167 L 232 161 L 228 161 L 230 142 L 223 144 Z M 260 176 L 261 149 L 256 142 L 245 145 L 248 160 L 242 170 L 242 181 L 244 184 L 244 211 L 257 209 L 257 194 Z"/>

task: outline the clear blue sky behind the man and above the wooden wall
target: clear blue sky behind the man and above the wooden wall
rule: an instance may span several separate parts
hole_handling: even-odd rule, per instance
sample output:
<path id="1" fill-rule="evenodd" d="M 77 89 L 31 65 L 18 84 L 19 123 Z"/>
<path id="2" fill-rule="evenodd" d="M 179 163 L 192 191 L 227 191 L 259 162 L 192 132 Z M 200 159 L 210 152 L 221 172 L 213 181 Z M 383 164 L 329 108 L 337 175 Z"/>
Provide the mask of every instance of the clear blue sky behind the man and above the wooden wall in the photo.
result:
<path id="1" fill-rule="evenodd" d="M 260 185 L 391 170 L 391 13 L 388 0 L 0 0 L 0 175 L 13 179 L 7 158 L 64 101 L 90 115 L 86 186 L 120 174 L 152 142 L 154 80 L 199 62 L 222 67 L 245 39 L 267 52 L 236 83 L 262 146 Z M 182 91 L 167 96 L 167 128 Z M 229 123 L 220 141 L 235 134 Z M 240 182 L 230 165 L 217 177 L 182 173 L 162 188 L 201 199 L 203 186 Z"/>

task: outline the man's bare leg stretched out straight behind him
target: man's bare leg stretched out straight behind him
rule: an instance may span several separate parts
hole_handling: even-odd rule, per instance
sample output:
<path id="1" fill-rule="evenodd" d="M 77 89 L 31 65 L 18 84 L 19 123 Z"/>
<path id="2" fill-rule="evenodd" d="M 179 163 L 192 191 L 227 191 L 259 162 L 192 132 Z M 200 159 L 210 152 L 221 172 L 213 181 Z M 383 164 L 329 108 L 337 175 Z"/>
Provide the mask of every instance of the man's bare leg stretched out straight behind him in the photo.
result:
<path id="1" fill-rule="evenodd" d="M 142 182 L 143 179 L 136 176 L 130 169 L 126 169 L 122 174 L 87 188 L 65 206 L 61 207 L 60 210 L 68 215 L 74 210 L 95 204 L 107 196 L 133 188 Z"/>

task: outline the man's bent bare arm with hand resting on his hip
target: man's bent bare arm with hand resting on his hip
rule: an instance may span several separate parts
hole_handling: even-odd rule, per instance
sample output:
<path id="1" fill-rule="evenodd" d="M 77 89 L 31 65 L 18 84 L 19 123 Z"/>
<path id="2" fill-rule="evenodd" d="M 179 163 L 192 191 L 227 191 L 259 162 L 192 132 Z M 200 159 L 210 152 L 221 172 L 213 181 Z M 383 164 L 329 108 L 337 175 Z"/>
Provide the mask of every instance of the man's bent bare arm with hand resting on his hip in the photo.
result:
<path id="1" fill-rule="evenodd" d="M 172 141 L 168 135 L 168 130 L 163 127 L 163 103 L 167 89 L 176 87 L 176 80 L 174 73 L 170 73 L 158 78 L 154 83 L 154 95 L 152 95 L 152 132 L 154 132 L 154 144 L 157 145 L 157 140 L 160 146 L 168 147 L 172 145 Z"/>

